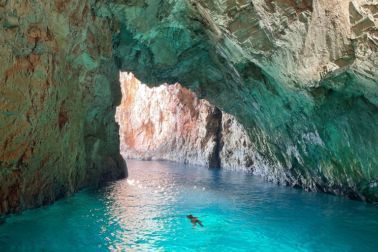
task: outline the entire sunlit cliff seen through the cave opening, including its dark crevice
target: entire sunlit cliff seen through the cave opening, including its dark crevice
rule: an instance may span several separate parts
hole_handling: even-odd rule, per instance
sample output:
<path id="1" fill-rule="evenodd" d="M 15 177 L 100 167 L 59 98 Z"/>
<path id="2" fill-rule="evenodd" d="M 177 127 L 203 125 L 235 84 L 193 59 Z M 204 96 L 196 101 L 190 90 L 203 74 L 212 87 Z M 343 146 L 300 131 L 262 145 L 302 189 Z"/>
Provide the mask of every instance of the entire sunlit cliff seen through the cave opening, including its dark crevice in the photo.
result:
<path id="1" fill-rule="evenodd" d="M 279 169 L 253 148 L 234 116 L 178 83 L 149 88 L 127 72 L 120 81 L 116 121 L 125 158 L 222 167 L 280 182 Z"/>

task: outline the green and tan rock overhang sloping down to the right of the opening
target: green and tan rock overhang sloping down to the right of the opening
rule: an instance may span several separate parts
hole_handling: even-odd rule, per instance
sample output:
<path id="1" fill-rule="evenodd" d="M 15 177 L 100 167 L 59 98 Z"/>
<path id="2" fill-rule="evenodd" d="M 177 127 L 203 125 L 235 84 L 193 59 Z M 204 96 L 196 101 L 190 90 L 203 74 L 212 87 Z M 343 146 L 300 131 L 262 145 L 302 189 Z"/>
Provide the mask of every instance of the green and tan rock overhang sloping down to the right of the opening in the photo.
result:
<path id="1" fill-rule="evenodd" d="M 134 0 L 93 11 L 119 22 L 121 70 L 179 82 L 234 115 L 269 160 L 267 178 L 378 202 L 377 3 Z"/>

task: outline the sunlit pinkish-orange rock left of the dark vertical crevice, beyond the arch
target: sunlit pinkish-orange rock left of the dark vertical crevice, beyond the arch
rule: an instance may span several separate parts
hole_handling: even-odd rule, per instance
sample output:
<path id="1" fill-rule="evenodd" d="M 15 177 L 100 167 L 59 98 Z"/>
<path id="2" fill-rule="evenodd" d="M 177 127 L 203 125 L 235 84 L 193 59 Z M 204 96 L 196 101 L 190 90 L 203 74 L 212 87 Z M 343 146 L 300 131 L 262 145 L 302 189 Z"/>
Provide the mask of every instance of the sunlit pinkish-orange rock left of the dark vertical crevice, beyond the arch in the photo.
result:
<path id="1" fill-rule="evenodd" d="M 120 80 L 116 121 L 125 158 L 220 167 L 221 110 L 180 84 L 149 88 L 126 72 Z"/>

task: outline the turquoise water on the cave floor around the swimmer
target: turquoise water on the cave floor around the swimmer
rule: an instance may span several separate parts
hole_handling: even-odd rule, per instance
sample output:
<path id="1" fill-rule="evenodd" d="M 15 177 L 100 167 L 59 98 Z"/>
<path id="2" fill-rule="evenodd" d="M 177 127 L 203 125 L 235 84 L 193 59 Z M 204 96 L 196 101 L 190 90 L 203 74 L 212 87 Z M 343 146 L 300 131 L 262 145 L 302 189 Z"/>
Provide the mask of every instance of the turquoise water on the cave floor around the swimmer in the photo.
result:
<path id="1" fill-rule="evenodd" d="M 0 219 L 0 252 L 377 251 L 377 206 L 243 172 L 127 164 L 128 180 Z M 204 227 L 170 217 L 189 214 Z"/>

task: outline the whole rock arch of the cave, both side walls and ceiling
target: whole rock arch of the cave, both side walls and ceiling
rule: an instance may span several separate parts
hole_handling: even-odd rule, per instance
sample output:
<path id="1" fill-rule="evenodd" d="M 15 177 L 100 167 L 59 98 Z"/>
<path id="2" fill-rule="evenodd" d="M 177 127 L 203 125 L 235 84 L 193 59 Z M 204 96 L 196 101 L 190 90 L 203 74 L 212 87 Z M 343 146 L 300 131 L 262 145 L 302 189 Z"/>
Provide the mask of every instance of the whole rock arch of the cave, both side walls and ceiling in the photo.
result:
<path id="1" fill-rule="evenodd" d="M 268 178 L 378 202 L 377 0 L 0 0 L 0 212 L 120 176 L 118 71 L 234 115 Z"/>

